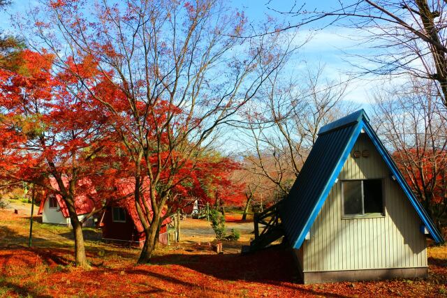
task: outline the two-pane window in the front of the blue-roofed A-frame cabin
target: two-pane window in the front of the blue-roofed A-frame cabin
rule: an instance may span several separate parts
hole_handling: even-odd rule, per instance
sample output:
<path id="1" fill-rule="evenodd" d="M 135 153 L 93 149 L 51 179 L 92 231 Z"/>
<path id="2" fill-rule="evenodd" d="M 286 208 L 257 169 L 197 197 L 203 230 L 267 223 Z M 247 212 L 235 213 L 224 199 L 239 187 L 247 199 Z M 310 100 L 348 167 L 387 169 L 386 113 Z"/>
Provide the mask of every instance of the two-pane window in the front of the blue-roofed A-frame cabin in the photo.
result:
<path id="1" fill-rule="evenodd" d="M 383 216 L 381 179 L 342 182 L 344 216 Z"/>

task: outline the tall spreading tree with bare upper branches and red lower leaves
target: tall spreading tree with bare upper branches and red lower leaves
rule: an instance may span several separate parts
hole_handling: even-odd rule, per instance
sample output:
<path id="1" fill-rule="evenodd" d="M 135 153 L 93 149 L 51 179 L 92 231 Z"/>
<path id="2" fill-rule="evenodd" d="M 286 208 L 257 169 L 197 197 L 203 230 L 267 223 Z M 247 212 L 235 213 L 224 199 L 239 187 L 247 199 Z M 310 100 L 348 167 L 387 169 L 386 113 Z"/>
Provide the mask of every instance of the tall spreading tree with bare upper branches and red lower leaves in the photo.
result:
<path id="1" fill-rule="evenodd" d="M 168 216 L 191 188 L 200 189 L 194 175 L 207 162 L 219 127 L 254 98 L 293 45 L 285 40 L 291 46 L 281 50 L 286 43 L 279 34 L 238 38 L 249 28 L 247 19 L 225 1 L 110 0 L 94 10 L 82 1 L 47 3 L 30 11 L 33 39 L 81 82 L 92 105 L 107 110 L 145 230 L 138 262 L 149 262 L 162 214 Z M 238 52 L 241 47 L 246 50 Z M 85 65 L 95 70 L 86 72 Z"/>

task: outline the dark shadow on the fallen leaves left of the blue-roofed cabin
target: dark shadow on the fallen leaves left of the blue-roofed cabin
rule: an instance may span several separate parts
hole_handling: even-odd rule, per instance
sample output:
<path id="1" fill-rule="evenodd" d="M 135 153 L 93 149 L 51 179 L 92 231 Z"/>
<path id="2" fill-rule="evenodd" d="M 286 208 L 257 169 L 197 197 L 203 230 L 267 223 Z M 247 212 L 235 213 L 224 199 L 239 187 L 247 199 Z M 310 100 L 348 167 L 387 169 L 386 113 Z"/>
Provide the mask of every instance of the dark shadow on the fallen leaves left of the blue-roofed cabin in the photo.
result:
<path id="1" fill-rule="evenodd" d="M 322 295 L 320 291 L 302 285 L 299 282 L 295 262 L 290 249 L 284 246 L 274 246 L 265 251 L 249 255 L 240 254 L 216 254 L 216 255 L 184 255 L 173 254 L 156 257 L 153 265 L 180 265 L 200 274 L 217 278 L 217 281 L 253 282 L 266 285 L 280 285 L 281 288 L 293 290 L 295 296 Z M 143 265 L 135 269 L 126 270 L 126 274 L 151 276 L 160 281 L 168 281 L 186 288 L 200 286 L 200 275 L 197 280 L 185 279 L 182 276 L 166 275 L 162 272 L 151 270 L 151 267 Z M 225 295 L 226 290 L 210 288 L 214 295 Z M 210 295 L 210 293 L 208 293 Z M 344 297 L 341 295 L 324 293 L 325 297 Z"/>

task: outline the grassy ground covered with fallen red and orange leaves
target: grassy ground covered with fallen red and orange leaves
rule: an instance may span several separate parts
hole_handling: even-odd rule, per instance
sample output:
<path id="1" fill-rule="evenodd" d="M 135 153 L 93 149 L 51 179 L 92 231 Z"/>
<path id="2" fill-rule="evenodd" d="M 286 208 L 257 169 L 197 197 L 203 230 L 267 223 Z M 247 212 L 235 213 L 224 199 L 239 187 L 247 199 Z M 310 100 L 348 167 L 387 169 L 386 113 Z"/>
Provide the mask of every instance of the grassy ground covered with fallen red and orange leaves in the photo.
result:
<path id="1" fill-rule="evenodd" d="M 300 285 L 289 251 L 236 253 L 247 234 L 247 241 L 226 244 L 221 255 L 200 235 L 185 237 L 160 248 L 151 265 L 137 266 L 137 249 L 103 244 L 96 230 L 87 229 L 92 267 L 83 270 L 73 267 L 68 228 L 36 223 L 36 247 L 27 248 L 28 224 L 27 216 L 0 210 L 0 297 L 447 297 L 446 246 L 429 248 L 427 279 Z M 209 223 L 182 224 L 184 231 L 200 226 Z"/>

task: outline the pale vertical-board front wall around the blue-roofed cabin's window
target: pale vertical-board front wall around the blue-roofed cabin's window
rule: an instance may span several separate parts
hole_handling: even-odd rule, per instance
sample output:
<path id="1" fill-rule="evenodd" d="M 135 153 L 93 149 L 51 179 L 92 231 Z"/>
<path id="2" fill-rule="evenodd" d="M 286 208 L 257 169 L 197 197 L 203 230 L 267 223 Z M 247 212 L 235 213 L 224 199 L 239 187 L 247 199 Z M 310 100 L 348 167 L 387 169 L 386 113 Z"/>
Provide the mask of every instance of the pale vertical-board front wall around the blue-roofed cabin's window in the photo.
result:
<path id="1" fill-rule="evenodd" d="M 368 158 L 353 158 L 353 151 L 365 149 Z M 353 151 L 302 246 L 303 270 L 426 267 L 425 236 L 409 199 L 365 133 Z M 341 181 L 374 178 L 383 179 L 385 216 L 343 219 Z"/>

